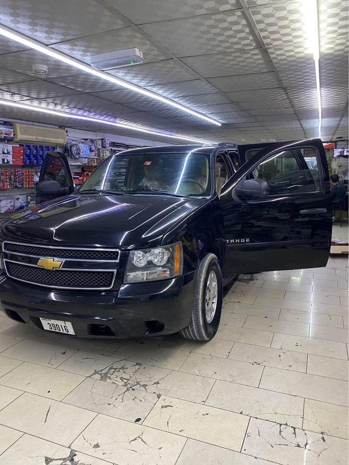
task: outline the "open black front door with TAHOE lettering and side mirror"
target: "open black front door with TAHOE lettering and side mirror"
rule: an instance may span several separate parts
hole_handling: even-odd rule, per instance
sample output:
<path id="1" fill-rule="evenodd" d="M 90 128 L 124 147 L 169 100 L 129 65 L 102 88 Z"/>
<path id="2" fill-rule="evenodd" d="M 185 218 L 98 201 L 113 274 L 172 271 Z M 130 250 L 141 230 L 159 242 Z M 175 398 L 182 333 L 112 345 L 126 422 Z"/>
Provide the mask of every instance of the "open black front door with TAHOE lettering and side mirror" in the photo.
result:
<path id="1" fill-rule="evenodd" d="M 326 265 L 332 201 L 320 139 L 268 145 L 231 177 L 220 200 L 225 273 Z"/>

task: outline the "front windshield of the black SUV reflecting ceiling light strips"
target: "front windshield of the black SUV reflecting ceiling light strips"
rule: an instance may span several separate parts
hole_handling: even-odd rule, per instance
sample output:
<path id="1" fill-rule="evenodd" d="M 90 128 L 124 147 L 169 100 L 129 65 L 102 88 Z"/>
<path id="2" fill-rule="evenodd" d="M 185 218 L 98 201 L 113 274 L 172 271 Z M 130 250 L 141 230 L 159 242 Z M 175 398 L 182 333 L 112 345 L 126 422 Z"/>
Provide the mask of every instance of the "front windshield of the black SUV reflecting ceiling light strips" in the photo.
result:
<path id="1" fill-rule="evenodd" d="M 209 162 L 209 155 L 193 151 L 116 154 L 95 169 L 79 192 L 210 195 Z"/>

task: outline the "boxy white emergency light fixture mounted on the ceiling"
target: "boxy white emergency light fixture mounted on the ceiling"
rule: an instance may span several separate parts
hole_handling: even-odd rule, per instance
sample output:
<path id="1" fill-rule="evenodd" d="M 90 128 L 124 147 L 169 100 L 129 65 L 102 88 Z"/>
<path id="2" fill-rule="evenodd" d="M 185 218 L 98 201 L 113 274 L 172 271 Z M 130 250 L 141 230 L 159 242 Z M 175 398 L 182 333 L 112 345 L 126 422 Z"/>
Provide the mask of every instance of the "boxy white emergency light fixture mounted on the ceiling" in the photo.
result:
<path id="1" fill-rule="evenodd" d="M 143 53 L 138 48 L 100 53 L 91 57 L 91 66 L 104 71 L 140 63 L 143 63 Z"/>

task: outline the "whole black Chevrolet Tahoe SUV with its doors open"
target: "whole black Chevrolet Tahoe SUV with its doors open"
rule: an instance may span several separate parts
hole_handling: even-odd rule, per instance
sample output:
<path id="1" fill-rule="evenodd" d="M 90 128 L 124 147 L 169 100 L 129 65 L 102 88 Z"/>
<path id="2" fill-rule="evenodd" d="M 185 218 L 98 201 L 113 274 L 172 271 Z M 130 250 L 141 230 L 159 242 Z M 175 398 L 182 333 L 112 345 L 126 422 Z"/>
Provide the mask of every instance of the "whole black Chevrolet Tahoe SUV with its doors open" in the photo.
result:
<path id="1" fill-rule="evenodd" d="M 208 340 L 236 273 L 329 256 L 320 139 L 126 150 L 79 189 L 65 157 L 48 152 L 40 181 L 38 204 L 1 220 L 0 303 L 46 331 Z"/>

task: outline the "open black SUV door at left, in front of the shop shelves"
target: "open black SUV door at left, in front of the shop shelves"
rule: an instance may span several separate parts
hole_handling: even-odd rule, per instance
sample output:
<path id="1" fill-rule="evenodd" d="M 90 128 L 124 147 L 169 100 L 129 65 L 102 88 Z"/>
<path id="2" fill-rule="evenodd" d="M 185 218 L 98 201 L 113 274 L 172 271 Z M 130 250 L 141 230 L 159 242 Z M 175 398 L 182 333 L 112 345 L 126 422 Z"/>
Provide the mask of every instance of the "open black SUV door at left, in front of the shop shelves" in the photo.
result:
<path id="1" fill-rule="evenodd" d="M 73 191 L 73 175 L 65 155 L 59 152 L 48 152 L 35 189 L 36 204 L 63 197 Z"/>

